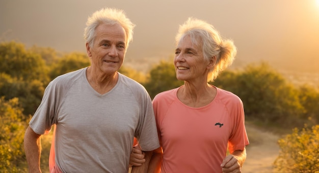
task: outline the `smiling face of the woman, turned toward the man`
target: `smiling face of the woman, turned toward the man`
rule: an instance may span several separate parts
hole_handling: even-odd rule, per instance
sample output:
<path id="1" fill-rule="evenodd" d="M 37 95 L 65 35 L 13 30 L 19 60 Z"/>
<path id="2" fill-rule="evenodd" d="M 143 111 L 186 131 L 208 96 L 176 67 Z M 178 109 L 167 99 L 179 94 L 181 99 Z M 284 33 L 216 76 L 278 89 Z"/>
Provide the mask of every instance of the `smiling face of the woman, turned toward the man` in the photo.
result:
<path id="1" fill-rule="evenodd" d="M 178 80 L 188 82 L 204 80 L 207 82 L 209 62 L 204 59 L 202 47 L 193 45 L 190 36 L 178 43 L 174 65 Z"/>

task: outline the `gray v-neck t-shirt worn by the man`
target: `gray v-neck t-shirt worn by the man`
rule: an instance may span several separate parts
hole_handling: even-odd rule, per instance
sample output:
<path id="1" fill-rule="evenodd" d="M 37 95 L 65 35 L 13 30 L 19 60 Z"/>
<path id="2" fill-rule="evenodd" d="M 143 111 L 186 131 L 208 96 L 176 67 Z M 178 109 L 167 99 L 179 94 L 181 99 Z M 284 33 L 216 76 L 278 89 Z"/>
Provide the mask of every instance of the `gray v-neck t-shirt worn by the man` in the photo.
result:
<path id="1" fill-rule="evenodd" d="M 120 73 L 115 87 L 99 94 L 86 69 L 49 83 L 30 126 L 43 134 L 57 125 L 56 164 L 63 172 L 127 172 L 134 136 L 144 151 L 159 147 L 151 99 Z"/>

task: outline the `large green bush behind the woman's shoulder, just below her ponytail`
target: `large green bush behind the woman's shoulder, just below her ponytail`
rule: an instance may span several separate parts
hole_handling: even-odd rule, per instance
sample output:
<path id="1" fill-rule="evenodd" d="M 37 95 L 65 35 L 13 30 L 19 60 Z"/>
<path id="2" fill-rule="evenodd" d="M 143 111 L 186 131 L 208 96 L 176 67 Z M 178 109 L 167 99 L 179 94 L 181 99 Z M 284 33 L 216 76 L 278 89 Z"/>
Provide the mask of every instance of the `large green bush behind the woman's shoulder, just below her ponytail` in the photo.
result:
<path id="1" fill-rule="evenodd" d="M 213 84 L 238 95 L 248 119 L 301 127 L 305 122 L 300 121 L 305 108 L 299 90 L 267 63 L 251 64 L 237 72 L 225 71 Z"/>

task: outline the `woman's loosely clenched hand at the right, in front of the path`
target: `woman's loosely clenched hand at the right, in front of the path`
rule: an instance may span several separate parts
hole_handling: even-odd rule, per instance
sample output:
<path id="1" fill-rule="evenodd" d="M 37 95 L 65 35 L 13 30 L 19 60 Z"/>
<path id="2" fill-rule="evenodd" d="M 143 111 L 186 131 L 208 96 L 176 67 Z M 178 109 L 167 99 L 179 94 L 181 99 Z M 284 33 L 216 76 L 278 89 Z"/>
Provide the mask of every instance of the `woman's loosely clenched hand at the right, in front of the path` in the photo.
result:
<path id="1" fill-rule="evenodd" d="M 241 171 L 241 165 L 238 162 L 237 156 L 234 155 L 228 155 L 224 158 L 222 164 L 221 164 L 222 170 L 224 173 L 237 173 L 242 172 Z"/>

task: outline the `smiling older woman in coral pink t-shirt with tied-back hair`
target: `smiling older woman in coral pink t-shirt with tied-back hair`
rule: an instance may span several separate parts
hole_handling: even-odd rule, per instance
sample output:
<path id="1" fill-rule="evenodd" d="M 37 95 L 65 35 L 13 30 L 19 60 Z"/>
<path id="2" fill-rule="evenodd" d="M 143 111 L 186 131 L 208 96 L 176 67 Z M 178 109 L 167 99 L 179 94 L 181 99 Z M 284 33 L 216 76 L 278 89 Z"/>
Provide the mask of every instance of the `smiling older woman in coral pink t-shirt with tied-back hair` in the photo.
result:
<path id="1" fill-rule="evenodd" d="M 242 100 L 208 84 L 235 55 L 233 42 L 212 25 L 189 18 L 180 26 L 174 65 L 184 85 L 153 99 L 161 149 L 150 172 L 241 172 L 249 144 Z"/>

